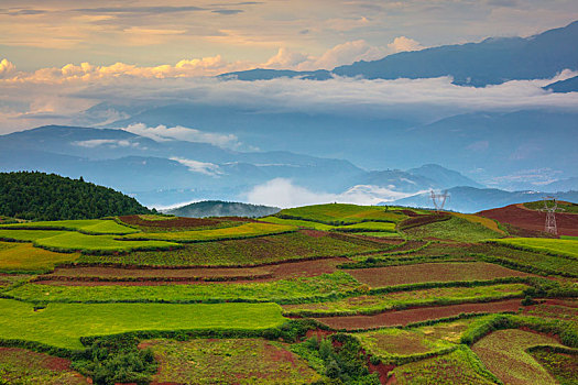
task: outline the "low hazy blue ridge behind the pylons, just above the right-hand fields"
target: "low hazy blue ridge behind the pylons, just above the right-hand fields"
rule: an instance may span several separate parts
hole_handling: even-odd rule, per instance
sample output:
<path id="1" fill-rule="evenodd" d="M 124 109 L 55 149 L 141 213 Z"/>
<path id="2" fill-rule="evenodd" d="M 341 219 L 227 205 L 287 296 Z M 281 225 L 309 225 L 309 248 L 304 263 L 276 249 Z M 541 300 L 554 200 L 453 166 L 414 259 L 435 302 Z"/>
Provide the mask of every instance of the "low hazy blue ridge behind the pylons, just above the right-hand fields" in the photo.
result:
<path id="1" fill-rule="evenodd" d="M 487 210 L 488 208 L 541 200 L 544 196 L 549 195 L 549 193 L 504 191 L 494 188 L 454 187 L 448 189 L 448 195 L 449 198 L 445 209 L 460 212 L 478 212 Z M 578 202 L 578 191 L 557 193 L 556 198 L 569 202 Z M 434 208 L 429 194 L 418 194 L 383 205 Z"/>

